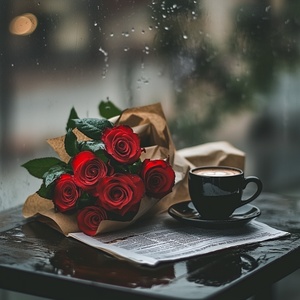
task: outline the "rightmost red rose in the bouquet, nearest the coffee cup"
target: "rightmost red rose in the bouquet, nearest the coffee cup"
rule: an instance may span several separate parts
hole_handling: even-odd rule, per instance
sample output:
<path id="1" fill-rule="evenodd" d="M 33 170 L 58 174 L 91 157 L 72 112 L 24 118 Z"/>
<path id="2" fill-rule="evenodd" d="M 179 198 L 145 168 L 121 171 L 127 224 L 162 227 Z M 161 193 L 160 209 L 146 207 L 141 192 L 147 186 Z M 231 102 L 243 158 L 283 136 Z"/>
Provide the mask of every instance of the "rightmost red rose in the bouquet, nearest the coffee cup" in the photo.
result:
<path id="1" fill-rule="evenodd" d="M 142 164 L 141 177 L 145 183 L 146 194 L 158 199 L 169 194 L 175 183 L 174 170 L 168 162 L 162 159 L 145 159 Z"/>

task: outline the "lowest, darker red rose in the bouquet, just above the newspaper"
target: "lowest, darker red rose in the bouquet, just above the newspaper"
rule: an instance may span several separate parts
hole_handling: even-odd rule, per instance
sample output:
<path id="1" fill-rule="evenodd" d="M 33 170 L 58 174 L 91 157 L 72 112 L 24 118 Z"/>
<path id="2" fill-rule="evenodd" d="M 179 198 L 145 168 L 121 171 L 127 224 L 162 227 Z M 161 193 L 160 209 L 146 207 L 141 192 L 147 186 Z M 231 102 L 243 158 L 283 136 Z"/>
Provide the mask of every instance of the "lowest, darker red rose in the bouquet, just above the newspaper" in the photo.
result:
<path id="1" fill-rule="evenodd" d="M 95 235 L 102 220 L 107 220 L 107 214 L 99 206 L 86 206 L 77 214 L 78 228 L 87 235 Z"/>

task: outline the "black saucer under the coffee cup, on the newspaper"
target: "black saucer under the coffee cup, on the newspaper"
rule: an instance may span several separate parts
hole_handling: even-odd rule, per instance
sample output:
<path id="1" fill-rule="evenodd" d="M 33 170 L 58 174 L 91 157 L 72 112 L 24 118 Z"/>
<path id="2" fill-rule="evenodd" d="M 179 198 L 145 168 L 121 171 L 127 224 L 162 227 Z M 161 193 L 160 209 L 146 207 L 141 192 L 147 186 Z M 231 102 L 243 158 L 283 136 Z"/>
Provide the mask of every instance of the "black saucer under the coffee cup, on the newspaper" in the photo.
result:
<path id="1" fill-rule="evenodd" d="M 245 204 L 237 208 L 233 214 L 225 220 L 203 219 L 195 209 L 191 201 L 176 203 L 169 207 L 168 213 L 181 222 L 201 228 L 232 228 L 239 227 L 260 215 L 260 210 L 256 206 Z"/>

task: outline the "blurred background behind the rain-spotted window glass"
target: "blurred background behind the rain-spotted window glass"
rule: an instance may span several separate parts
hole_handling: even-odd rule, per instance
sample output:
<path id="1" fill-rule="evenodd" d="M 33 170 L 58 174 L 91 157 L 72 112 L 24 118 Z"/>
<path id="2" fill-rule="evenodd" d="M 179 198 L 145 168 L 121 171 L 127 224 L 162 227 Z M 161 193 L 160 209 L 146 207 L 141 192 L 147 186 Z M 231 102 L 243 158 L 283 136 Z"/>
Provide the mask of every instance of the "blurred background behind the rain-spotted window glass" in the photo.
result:
<path id="1" fill-rule="evenodd" d="M 300 2 L 2 0 L 0 37 L 0 211 L 39 188 L 21 164 L 54 155 L 70 109 L 106 99 L 161 102 L 177 149 L 226 140 L 265 192 L 299 195 Z"/>

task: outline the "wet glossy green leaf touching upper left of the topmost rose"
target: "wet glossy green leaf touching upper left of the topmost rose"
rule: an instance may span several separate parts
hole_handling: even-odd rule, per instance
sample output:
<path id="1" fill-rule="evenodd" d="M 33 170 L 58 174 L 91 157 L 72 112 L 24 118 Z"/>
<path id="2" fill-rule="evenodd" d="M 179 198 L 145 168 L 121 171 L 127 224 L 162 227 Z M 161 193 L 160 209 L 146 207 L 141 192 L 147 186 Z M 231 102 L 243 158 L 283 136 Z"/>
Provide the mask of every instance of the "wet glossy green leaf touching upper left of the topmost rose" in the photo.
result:
<path id="1" fill-rule="evenodd" d="M 113 124 L 106 119 L 83 118 L 74 119 L 73 121 L 79 131 L 94 140 L 100 140 L 102 131 L 105 128 L 113 127 Z"/>

